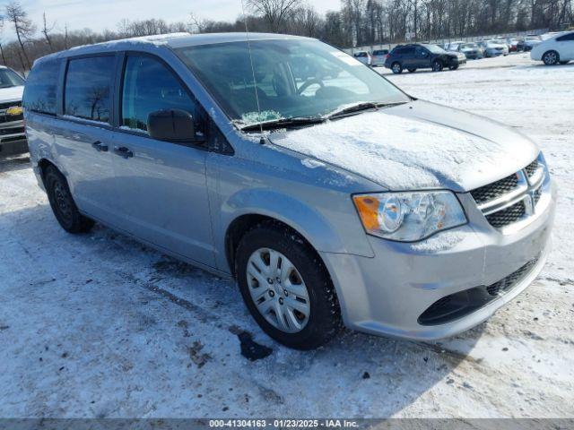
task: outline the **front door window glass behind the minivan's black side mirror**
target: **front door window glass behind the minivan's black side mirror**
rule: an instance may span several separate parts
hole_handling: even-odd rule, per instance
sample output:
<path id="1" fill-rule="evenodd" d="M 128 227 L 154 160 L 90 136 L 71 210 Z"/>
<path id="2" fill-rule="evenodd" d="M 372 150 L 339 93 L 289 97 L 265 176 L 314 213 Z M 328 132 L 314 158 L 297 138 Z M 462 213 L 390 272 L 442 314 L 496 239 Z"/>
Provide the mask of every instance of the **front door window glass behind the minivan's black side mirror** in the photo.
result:
<path id="1" fill-rule="evenodd" d="M 123 127 L 147 131 L 147 117 L 163 109 L 184 110 L 194 117 L 196 131 L 204 132 L 201 109 L 176 76 L 149 56 L 128 56 L 122 90 Z"/>

